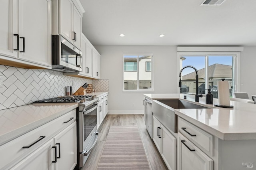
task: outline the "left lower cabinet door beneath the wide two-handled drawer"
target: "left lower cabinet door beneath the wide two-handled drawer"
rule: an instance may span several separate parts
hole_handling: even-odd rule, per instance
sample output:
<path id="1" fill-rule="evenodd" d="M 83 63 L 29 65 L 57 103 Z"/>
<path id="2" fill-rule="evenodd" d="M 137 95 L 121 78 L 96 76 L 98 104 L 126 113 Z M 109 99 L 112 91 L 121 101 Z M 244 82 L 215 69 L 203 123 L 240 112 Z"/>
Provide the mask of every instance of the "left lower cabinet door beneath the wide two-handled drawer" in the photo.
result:
<path id="1" fill-rule="evenodd" d="M 10 168 L 10 170 L 53 170 L 55 166 L 55 163 L 52 162 L 55 160 L 55 148 L 52 148 L 53 144 L 53 139 L 51 139 L 18 164 Z"/>

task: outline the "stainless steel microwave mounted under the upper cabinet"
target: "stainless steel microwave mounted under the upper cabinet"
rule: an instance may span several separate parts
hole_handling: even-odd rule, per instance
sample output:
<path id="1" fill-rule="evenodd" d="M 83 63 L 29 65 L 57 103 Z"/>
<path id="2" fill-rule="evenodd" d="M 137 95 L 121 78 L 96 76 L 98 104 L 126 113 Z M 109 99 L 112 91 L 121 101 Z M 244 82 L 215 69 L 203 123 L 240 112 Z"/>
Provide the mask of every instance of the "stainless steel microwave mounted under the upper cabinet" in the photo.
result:
<path id="1" fill-rule="evenodd" d="M 82 51 L 58 35 L 52 35 L 52 69 L 61 72 L 82 71 Z"/>

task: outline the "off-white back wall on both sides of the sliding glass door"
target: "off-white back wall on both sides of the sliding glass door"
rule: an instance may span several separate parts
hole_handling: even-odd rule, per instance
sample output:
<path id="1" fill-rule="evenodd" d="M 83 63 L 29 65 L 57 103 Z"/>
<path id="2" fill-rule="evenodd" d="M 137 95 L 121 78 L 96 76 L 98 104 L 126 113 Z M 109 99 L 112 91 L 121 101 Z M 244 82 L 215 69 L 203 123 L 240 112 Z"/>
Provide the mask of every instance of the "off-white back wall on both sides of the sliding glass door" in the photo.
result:
<path id="1" fill-rule="evenodd" d="M 123 53 L 153 53 L 154 92 L 177 93 L 176 46 L 94 45 L 101 54 L 101 79 L 109 79 L 110 113 L 143 113 L 143 92 L 124 92 Z M 240 55 L 241 92 L 256 95 L 256 46 L 245 46 Z M 134 107 L 132 104 L 134 103 Z"/>

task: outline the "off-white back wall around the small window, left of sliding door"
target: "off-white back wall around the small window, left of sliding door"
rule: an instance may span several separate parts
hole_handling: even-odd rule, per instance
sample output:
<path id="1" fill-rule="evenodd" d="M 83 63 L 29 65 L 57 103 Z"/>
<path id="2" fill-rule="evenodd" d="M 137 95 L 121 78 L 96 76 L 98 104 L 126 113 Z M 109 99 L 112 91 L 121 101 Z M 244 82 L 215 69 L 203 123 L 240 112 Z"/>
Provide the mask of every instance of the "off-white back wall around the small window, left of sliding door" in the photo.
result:
<path id="1" fill-rule="evenodd" d="M 143 93 L 123 91 L 123 53 L 153 53 L 154 92 L 176 93 L 175 46 L 94 45 L 101 54 L 100 78 L 109 79 L 109 113 L 143 113 Z M 134 107 L 132 104 L 134 103 Z"/>

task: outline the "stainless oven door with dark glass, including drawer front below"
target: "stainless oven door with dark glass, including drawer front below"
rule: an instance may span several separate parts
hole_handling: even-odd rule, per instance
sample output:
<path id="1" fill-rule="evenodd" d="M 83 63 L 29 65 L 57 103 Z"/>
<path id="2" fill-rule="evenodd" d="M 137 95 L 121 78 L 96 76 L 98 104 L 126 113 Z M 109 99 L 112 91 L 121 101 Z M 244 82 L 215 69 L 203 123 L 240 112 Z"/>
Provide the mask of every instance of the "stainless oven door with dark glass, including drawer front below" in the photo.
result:
<path id="1" fill-rule="evenodd" d="M 98 132 L 96 132 L 97 107 L 98 104 L 93 104 L 82 113 L 82 126 L 80 127 L 80 130 L 82 131 L 80 139 L 80 142 L 82 142 L 82 147 L 80 147 L 80 167 L 84 166 L 98 139 Z"/>

